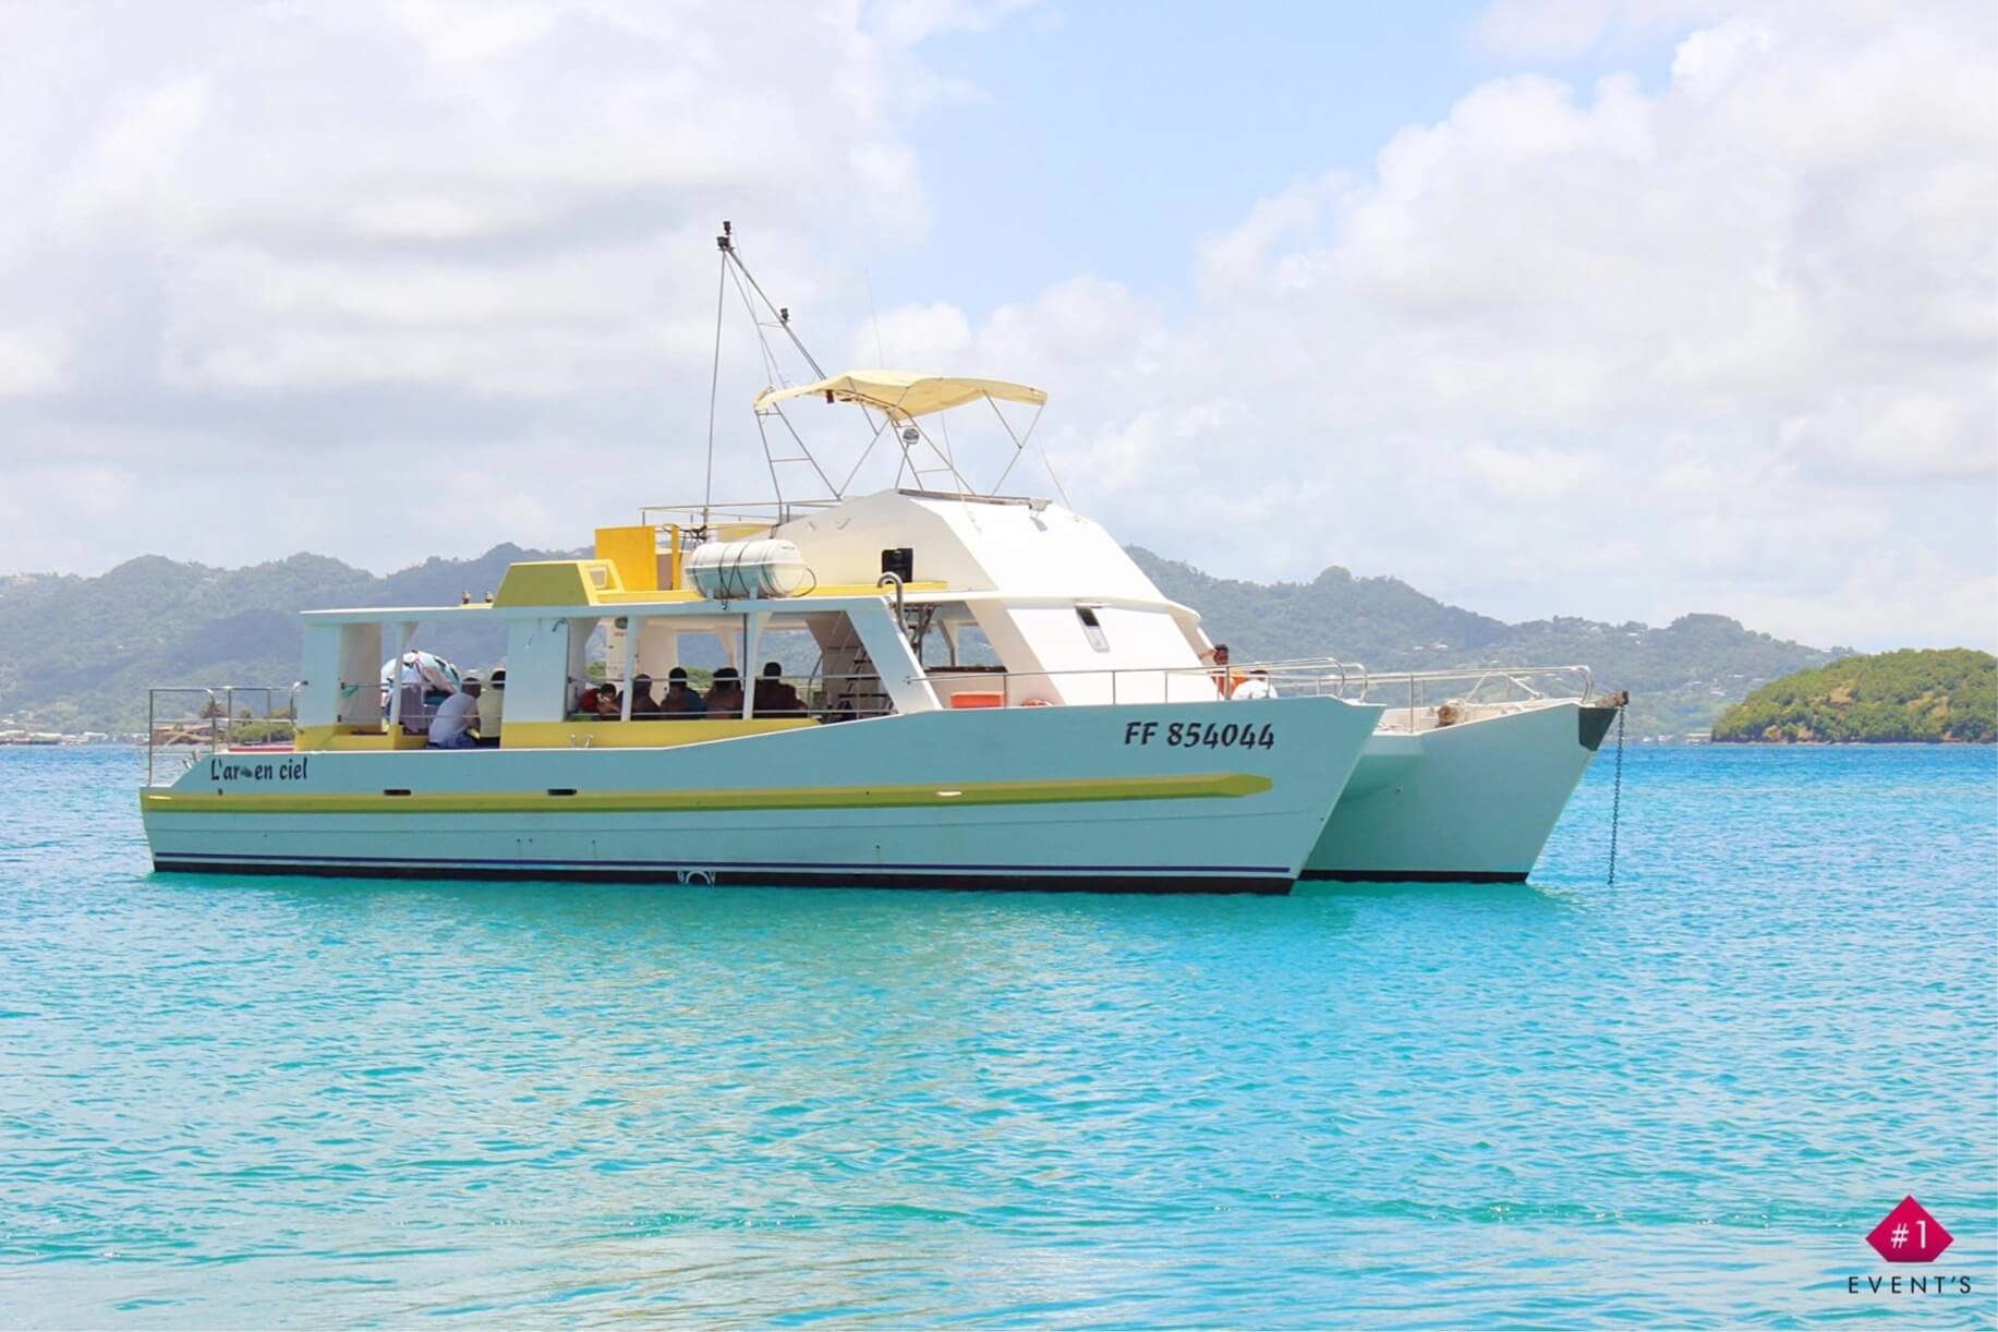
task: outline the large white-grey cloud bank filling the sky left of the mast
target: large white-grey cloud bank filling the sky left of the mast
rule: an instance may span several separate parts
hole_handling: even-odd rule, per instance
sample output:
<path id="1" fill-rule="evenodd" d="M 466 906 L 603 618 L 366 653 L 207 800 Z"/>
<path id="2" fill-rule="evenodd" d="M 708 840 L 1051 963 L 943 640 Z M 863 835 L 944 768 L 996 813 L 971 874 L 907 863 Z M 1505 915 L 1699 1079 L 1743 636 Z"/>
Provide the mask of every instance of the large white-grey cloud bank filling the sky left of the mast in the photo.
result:
<path id="1" fill-rule="evenodd" d="M 915 244 L 927 226 L 891 70 L 913 62 L 909 42 L 1005 8 L 6 10 L 0 489 L 34 501 L 8 513 L 0 569 L 308 541 L 384 567 L 569 545 L 699 489 L 685 465 L 705 429 L 715 224 L 741 222 L 781 300 L 851 310 L 859 284 L 821 278 L 825 254 Z M 763 371 L 735 324 L 725 353 L 721 417 L 739 433 L 747 413 L 727 407 Z M 208 483 L 276 463 L 320 517 L 286 503 L 266 525 L 230 505 L 196 541 L 170 499 L 192 439 Z M 589 453 L 569 471 L 577 439 Z M 56 453 L 88 493 L 38 479 Z M 422 505 L 420 523 L 384 519 L 390 477 L 422 485 L 452 457 L 496 483 Z M 717 485 L 759 473 L 731 447 Z M 647 475 L 657 493 L 629 483 Z M 102 499 L 134 493 L 148 503 L 106 523 Z"/>

